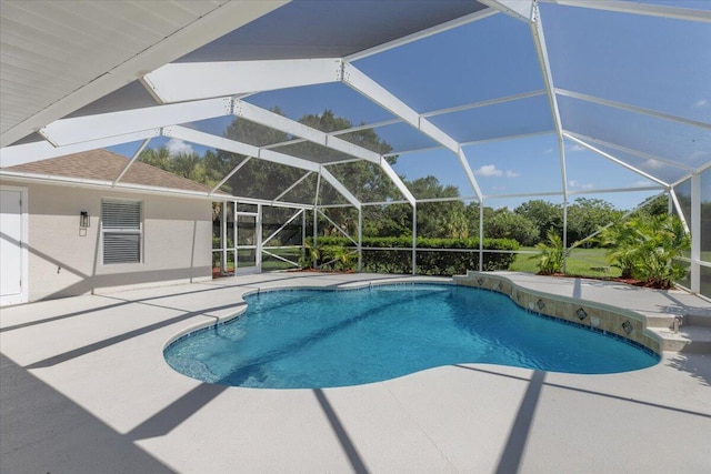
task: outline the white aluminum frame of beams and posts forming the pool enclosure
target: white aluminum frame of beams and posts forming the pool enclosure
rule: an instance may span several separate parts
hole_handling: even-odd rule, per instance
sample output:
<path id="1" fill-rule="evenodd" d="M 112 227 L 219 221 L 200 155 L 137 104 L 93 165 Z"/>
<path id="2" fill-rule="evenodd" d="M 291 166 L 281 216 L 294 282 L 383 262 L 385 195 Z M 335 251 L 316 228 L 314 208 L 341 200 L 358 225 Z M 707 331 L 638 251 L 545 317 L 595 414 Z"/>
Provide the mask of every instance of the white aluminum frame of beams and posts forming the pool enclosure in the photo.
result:
<path id="1" fill-rule="evenodd" d="M 681 21 L 693 21 L 711 23 L 711 11 L 699 10 L 691 11 L 683 8 L 655 6 L 649 3 L 634 3 L 630 1 L 620 0 L 541 0 L 548 3 L 555 3 L 561 6 L 573 6 L 583 9 L 595 9 L 610 12 L 620 12 L 624 14 L 641 14 L 652 16 Z M 700 266 L 707 266 L 701 261 L 701 242 L 700 242 L 700 212 L 701 212 L 701 172 L 709 167 L 709 163 L 703 164 L 701 168 L 694 168 L 684 163 L 675 162 L 669 159 L 655 157 L 650 153 L 645 153 L 639 150 L 632 150 L 622 147 L 617 143 L 607 142 L 597 137 L 590 137 L 582 133 L 573 132 L 565 129 L 565 123 L 561 119 L 559 110 L 558 98 L 565 97 L 575 100 L 584 101 L 588 103 L 594 103 L 601 107 L 624 110 L 630 113 L 653 117 L 657 119 L 670 121 L 673 123 L 680 123 L 694 129 L 701 129 L 703 131 L 711 130 L 711 123 L 702 122 L 699 120 L 691 120 L 683 117 L 664 113 L 661 111 L 637 107 L 620 101 L 613 101 L 593 97 L 580 91 L 568 90 L 558 88 L 553 74 L 551 72 L 550 58 L 548 54 L 547 41 L 544 36 L 544 26 L 541 20 L 541 12 L 539 3 L 533 0 L 479 0 L 480 3 L 488 7 L 479 10 L 474 13 L 463 16 L 461 18 L 443 22 L 439 26 L 430 27 L 421 31 L 407 34 L 402 38 L 398 38 L 382 44 L 378 44 L 362 51 L 344 56 L 343 58 L 310 58 L 310 59 L 274 59 L 274 60 L 243 60 L 243 61 L 211 61 L 211 62 L 168 62 L 160 67 L 153 64 L 152 68 L 144 69 L 139 74 L 139 79 L 144 89 L 159 102 L 153 107 L 147 107 L 133 110 L 121 110 L 106 113 L 94 113 L 83 117 L 67 117 L 63 119 L 57 119 L 60 115 L 67 115 L 78 107 L 84 105 L 80 103 L 76 95 L 60 101 L 54 107 L 48 108 L 46 112 L 37 114 L 32 123 L 42 118 L 47 118 L 40 127 L 37 127 L 37 132 L 43 140 L 4 145 L 8 137 L 14 137 L 17 130 L 11 130 L 10 135 L 3 135 L 3 147 L 0 150 L 0 175 L 7 177 L 13 180 L 23 182 L 51 182 L 63 185 L 81 185 L 93 188 L 111 188 L 117 190 L 133 190 L 143 191 L 149 193 L 162 193 L 170 195 L 189 195 L 198 199 L 206 200 L 221 200 L 233 202 L 251 202 L 259 206 L 259 214 L 261 215 L 262 205 L 279 205 L 291 206 L 299 209 L 292 216 L 297 219 L 301 213 L 306 215 L 306 209 L 311 209 L 314 213 L 314 232 L 318 229 L 317 219 L 319 212 L 328 209 L 332 205 L 327 203 L 320 203 L 318 201 L 319 190 L 321 183 L 328 182 L 333 189 L 336 189 L 341 196 L 346 199 L 349 206 L 353 206 L 359 213 L 358 225 L 358 239 L 351 239 L 357 245 L 359 251 L 359 262 L 362 263 L 362 208 L 363 205 L 381 204 L 381 203 L 367 203 L 361 202 L 352 190 L 349 190 L 343 183 L 341 183 L 332 173 L 327 169 L 328 165 L 336 163 L 344 163 L 347 161 L 332 161 L 327 163 L 320 163 L 313 160 L 298 158 L 288 153 L 276 151 L 274 148 L 282 147 L 287 143 L 298 143 L 302 141 L 309 141 L 319 145 L 329 148 L 331 150 L 344 153 L 351 157 L 350 161 L 364 160 L 380 167 L 382 172 L 392 181 L 398 191 L 403 195 L 403 201 L 390 201 L 389 203 L 408 203 L 412 208 L 412 272 L 415 273 L 417 262 L 417 208 L 418 203 L 434 202 L 438 200 L 418 200 L 411 193 L 411 191 L 403 183 L 402 179 L 388 163 L 388 154 L 379 154 L 371 150 L 367 150 L 357 144 L 350 143 L 347 140 L 339 138 L 340 134 L 353 132 L 357 130 L 372 129 L 377 127 L 383 127 L 394 123 L 407 123 L 413 129 L 418 130 L 425 137 L 432 139 L 438 148 L 448 150 L 453 153 L 460 163 L 468 184 L 471 186 L 471 193 L 467 193 L 463 196 L 457 198 L 462 201 L 477 201 L 480 208 L 480 222 L 479 222 L 479 236 L 480 248 L 480 265 L 481 256 L 483 255 L 483 208 L 485 202 L 492 199 L 513 198 L 513 196 L 542 196 L 542 195 L 558 195 L 562 199 L 563 204 L 563 244 L 568 246 L 568 206 L 570 205 L 570 198 L 573 195 L 583 195 L 587 193 L 603 193 L 603 192 L 623 192 L 622 189 L 608 189 L 608 190 L 594 190 L 594 191 L 572 191 L 569 189 L 567 178 L 567 162 L 565 162 L 565 147 L 564 141 L 569 140 L 587 150 L 597 153 L 605 160 L 622 167 L 645 180 L 654 183 L 653 185 L 643 188 L 649 191 L 667 192 L 671 202 L 678 210 L 678 213 L 683 219 L 683 213 L 679 210 L 679 202 L 675 198 L 674 185 L 682 181 L 691 180 L 691 222 L 684 220 L 684 224 L 691 232 L 692 249 L 691 249 L 691 291 L 700 291 Z M 281 3 L 281 2 L 278 2 Z M 254 11 L 250 12 L 252 17 L 257 17 L 259 11 L 269 11 L 271 8 L 278 7 L 278 4 L 269 7 L 253 7 Z M 227 11 L 226 9 L 221 10 Z M 528 26 L 532 43 L 535 49 L 538 63 L 544 85 L 543 90 L 532 90 L 528 92 L 520 92 L 509 97 L 491 98 L 481 102 L 460 104 L 453 108 L 429 111 L 424 113 L 417 112 L 412 107 L 402 101 L 390 90 L 378 83 L 371 77 L 361 71 L 354 65 L 354 62 L 363 58 L 368 58 L 373 54 L 378 54 L 393 48 L 398 48 L 411 42 L 438 34 L 454 28 L 459 28 L 464 24 L 477 22 L 485 18 L 490 18 L 495 14 L 507 14 L 514 18 L 517 21 Z M 210 20 L 219 27 L 217 33 L 224 33 L 229 26 L 229 20 L 218 18 L 217 13 L 210 16 Z M 207 22 L 207 20 L 203 20 Z M 191 29 L 187 29 L 177 36 L 178 39 L 188 39 L 188 32 Z M 226 31 L 223 31 L 226 30 Z M 213 34 L 217 34 L 213 33 Z M 207 36 L 206 36 L 207 34 Z M 208 38 L 210 34 L 201 33 L 200 38 Z M 176 40 L 176 39 L 173 39 Z M 176 42 L 171 40 L 171 48 L 161 49 L 158 48 L 154 51 L 152 60 L 157 58 L 168 58 L 174 52 Z M 196 40 L 197 41 L 197 40 Z M 191 42 L 192 44 L 192 42 Z M 192 44 L 197 48 L 199 44 Z M 193 48 L 193 49 L 194 49 Z M 169 52 L 171 54 L 169 54 Z M 174 56 L 174 54 L 172 54 Z M 174 58 L 173 58 L 174 59 Z M 134 63 L 137 60 L 129 61 Z M 127 67 L 117 68 L 116 73 L 126 80 Z M 120 74 L 119 74 L 120 72 Z M 107 93 L 110 90 L 107 89 L 109 83 L 117 82 L 117 78 L 107 77 L 99 78 L 97 80 L 97 88 L 87 97 L 93 97 L 99 91 Z M 380 108 L 391 112 L 395 118 L 391 120 L 381 121 L 379 123 L 370 123 L 368 125 L 357 125 L 348 130 L 340 130 L 337 132 L 326 133 L 313 128 L 307 127 L 298 121 L 279 115 L 271 111 L 259 108 L 252 103 L 249 103 L 244 98 L 254 92 L 302 87 L 327 83 L 342 83 L 360 93 L 362 97 L 369 99 Z M 471 169 L 468 157 L 463 151 L 463 147 L 473 143 L 484 143 L 488 141 L 507 140 L 517 138 L 517 135 L 502 137 L 490 140 L 481 140 L 474 142 L 458 142 L 454 138 L 448 134 L 441 128 L 434 125 L 430 120 L 432 117 L 442 115 L 445 113 L 453 113 L 458 111 L 493 105 L 510 101 L 524 100 L 528 98 L 539 97 L 545 94 L 548 104 L 552 118 L 553 130 L 535 133 L 527 133 L 518 137 L 537 135 L 539 133 L 554 133 L 558 140 L 558 153 L 560 158 L 560 173 L 561 173 L 561 186 L 557 191 L 539 192 L 539 193 L 525 193 L 525 194 L 483 194 L 481 186 Z M 101 95 L 93 97 L 98 99 Z M 72 110 L 70 105 L 76 105 Z M 57 115 L 56 111 L 63 111 L 62 114 Z M 264 147 L 253 147 L 248 143 L 242 143 L 236 140 L 218 137 L 211 133 L 197 131 L 184 127 L 184 123 L 196 122 L 207 119 L 213 119 L 218 117 L 238 117 L 250 120 L 256 123 L 269 127 L 274 130 L 279 130 L 290 137 L 289 142 L 276 143 Z M 50 120 L 51 119 L 51 120 Z M 39 123 L 39 122 L 38 122 Z M 210 192 L 190 192 L 190 191 L 177 191 L 164 190 L 150 185 L 130 184 L 122 181 L 126 172 L 136 162 L 141 151 L 149 144 L 151 139 L 157 137 L 173 138 L 184 140 L 190 143 L 196 143 L 203 147 L 224 150 L 232 153 L 244 155 L 246 158 L 237 163 L 233 169 L 223 179 L 214 185 Z M 19 137 L 17 137 L 19 138 Z M 127 162 L 126 167 L 121 170 L 120 174 L 110 182 L 97 181 L 97 180 L 78 180 L 62 177 L 49 177 L 38 175 L 33 173 L 14 172 L 7 170 L 9 167 L 30 163 L 32 161 L 44 160 L 49 158 L 62 157 L 66 154 L 93 150 L 98 148 L 107 148 L 118 145 L 128 142 L 141 142 L 139 149 L 134 152 L 131 159 Z M 601 150 L 599 147 L 603 147 L 605 150 L 613 150 L 608 152 Z M 420 150 L 405 150 L 398 153 L 403 155 L 411 152 L 418 152 Z M 675 183 L 665 182 L 664 180 L 655 177 L 651 172 L 645 172 L 638 167 L 627 163 L 624 160 L 614 155 L 614 151 L 620 153 L 630 153 L 635 157 L 640 157 L 645 160 L 652 160 L 653 162 L 664 165 L 674 167 L 681 170 L 684 175 Z M 240 171 L 250 160 L 264 160 L 273 163 L 280 163 L 288 167 L 293 167 L 303 170 L 303 175 L 296 182 L 290 183 L 289 186 L 281 192 L 273 200 L 250 200 L 240 196 L 222 196 L 219 193 L 220 188 L 236 173 Z M 312 174 L 317 175 L 317 192 L 313 198 L 313 203 L 310 205 L 289 203 L 282 201 L 282 199 L 299 185 L 303 180 Z M 323 181 L 322 181 L 323 180 Z M 638 188 L 637 190 L 640 190 Z M 447 200 L 441 200 L 447 201 Z M 328 219 L 328 218 L 327 218 Z M 291 221 L 290 221 L 291 222 Z M 261 221 L 259 229 L 261 231 Z M 259 239 L 259 252 L 261 255 L 261 245 L 267 243 Z M 236 242 L 237 244 L 237 242 Z M 223 258 L 224 260 L 224 258 Z M 237 255 L 236 255 L 237 263 Z M 481 270 L 481 268 L 480 268 Z"/>

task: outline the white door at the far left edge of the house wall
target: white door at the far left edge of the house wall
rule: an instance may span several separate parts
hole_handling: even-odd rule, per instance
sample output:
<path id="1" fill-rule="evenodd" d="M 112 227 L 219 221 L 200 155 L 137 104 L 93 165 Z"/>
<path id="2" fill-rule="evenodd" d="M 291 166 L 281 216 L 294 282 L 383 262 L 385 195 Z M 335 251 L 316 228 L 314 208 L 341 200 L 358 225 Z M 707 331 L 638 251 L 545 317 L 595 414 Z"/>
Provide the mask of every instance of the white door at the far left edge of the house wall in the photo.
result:
<path id="1" fill-rule="evenodd" d="M 0 190 L 0 304 L 26 301 L 26 268 L 22 251 L 22 194 L 21 190 Z"/>

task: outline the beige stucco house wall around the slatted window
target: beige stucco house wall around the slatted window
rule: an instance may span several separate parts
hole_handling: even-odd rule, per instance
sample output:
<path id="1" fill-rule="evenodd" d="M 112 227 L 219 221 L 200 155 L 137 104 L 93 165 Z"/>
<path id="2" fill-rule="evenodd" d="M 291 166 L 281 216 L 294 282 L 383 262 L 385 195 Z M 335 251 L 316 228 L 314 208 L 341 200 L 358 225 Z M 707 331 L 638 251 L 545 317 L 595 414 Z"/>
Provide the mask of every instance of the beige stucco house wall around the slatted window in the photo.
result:
<path id="1" fill-rule="evenodd" d="M 29 192 L 29 300 L 211 279 L 209 201 L 2 180 Z M 102 264 L 102 199 L 143 206 L 143 262 Z M 79 213 L 91 222 L 80 232 Z"/>

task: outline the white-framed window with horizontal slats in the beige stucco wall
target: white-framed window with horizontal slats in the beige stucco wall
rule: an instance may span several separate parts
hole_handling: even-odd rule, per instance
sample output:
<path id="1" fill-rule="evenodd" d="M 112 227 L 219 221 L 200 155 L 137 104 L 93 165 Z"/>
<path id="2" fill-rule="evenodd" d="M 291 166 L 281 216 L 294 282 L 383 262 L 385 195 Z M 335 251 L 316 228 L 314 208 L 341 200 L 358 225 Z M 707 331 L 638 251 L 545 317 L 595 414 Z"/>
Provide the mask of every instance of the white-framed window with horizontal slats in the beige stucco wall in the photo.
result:
<path id="1" fill-rule="evenodd" d="M 141 262 L 141 202 L 102 201 L 103 263 Z"/>

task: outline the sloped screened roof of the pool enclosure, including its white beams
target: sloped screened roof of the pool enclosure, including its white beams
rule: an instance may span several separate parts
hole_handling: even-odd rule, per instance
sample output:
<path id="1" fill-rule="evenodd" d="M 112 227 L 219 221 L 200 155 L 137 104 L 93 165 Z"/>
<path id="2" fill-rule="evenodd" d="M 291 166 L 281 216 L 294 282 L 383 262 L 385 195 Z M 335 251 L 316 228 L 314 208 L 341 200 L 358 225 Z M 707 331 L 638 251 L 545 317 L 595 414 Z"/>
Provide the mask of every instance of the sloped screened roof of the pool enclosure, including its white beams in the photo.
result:
<path id="1" fill-rule="evenodd" d="M 294 0 L 232 30 L 211 7 L 224 34 L 42 123 L 2 149 L 3 170 L 164 150 L 236 198 L 289 202 L 320 175 L 333 203 L 413 203 L 411 182 L 431 175 L 461 199 L 609 193 L 630 208 L 711 162 L 708 2 Z M 391 192 L 357 189 L 353 162 Z"/>

